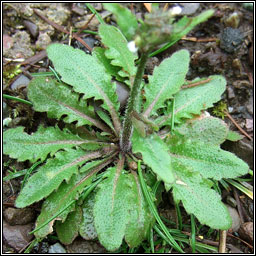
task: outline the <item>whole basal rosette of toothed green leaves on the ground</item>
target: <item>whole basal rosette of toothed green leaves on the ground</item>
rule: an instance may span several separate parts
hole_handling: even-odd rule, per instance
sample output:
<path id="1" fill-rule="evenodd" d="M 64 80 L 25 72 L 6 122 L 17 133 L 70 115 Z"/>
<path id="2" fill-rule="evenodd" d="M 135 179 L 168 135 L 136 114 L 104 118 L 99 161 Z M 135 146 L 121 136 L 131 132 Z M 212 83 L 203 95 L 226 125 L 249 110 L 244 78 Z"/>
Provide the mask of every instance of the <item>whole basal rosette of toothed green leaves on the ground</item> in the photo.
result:
<path id="1" fill-rule="evenodd" d="M 23 208 L 45 198 L 36 221 L 37 238 L 52 233 L 56 223 L 64 244 L 80 234 L 85 239 L 98 237 L 109 251 L 118 249 L 123 239 L 136 247 L 147 238 L 155 219 L 136 168 L 129 167 L 131 156 L 142 159 L 144 174 L 153 173 L 155 181 L 161 180 L 174 200 L 202 224 L 228 229 L 231 218 L 212 180 L 244 175 L 248 166 L 220 148 L 229 137 L 222 120 L 195 119 L 221 99 L 225 79 L 215 75 L 183 89 L 190 58 L 187 50 L 180 50 L 155 68 L 144 88 L 139 87 L 134 107 L 139 113 L 122 116 L 112 79 L 127 78 L 131 85 L 137 56 L 116 27 L 102 24 L 99 33 L 105 48 L 95 48 L 92 55 L 67 45 L 50 45 L 48 57 L 61 82 L 41 77 L 28 86 L 34 110 L 67 125 L 40 126 L 31 134 L 24 127 L 4 132 L 5 154 L 18 161 L 44 162 L 28 179 L 15 206 Z M 101 106 L 93 108 L 92 99 L 100 100 Z M 171 111 L 168 103 L 174 99 Z M 126 132 L 123 119 L 132 124 L 128 152 L 120 146 Z"/>

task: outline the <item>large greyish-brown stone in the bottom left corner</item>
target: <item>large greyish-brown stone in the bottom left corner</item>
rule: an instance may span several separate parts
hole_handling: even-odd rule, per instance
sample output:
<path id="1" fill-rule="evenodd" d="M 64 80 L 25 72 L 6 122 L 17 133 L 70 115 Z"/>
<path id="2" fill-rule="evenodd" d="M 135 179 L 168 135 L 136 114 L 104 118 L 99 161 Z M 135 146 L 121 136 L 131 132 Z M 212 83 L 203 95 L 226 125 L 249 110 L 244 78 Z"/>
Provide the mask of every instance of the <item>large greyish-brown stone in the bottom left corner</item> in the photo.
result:
<path id="1" fill-rule="evenodd" d="M 29 235 L 32 227 L 32 223 L 10 226 L 6 221 L 3 221 L 3 236 L 9 246 L 19 251 L 32 240 L 33 235 Z"/>

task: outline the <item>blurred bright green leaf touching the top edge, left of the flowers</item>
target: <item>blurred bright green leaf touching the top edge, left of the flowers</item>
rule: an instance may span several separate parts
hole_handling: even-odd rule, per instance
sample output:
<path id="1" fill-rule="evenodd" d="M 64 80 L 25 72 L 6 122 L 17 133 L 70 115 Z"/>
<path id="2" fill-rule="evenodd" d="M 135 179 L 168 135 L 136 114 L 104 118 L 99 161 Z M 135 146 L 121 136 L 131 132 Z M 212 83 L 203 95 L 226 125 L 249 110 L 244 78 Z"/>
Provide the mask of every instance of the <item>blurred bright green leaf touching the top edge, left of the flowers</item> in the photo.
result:
<path id="1" fill-rule="evenodd" d="M 115 15 L 116 23 L 128 41 L 134 38 L 138 28 L 136 16 L 127 8 L 117 3 L 104 3 L 104 9 Z"/>

